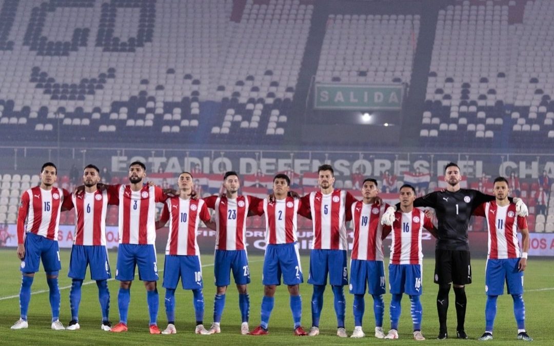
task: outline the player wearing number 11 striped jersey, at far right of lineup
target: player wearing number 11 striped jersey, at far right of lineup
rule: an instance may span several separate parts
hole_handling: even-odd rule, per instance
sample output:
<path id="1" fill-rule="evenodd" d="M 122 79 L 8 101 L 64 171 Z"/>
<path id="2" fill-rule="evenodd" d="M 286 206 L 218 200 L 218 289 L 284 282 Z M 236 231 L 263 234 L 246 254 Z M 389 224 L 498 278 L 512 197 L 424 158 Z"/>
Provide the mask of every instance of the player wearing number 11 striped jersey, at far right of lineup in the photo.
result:
<path id="1" fill-rule="evenodd" d="M 514 299 L 514 315 L 517 323 L 517 339 L 532 341 L 525 330 L 525 304 L 523 301 L 523 272 L 527 267 L 529 251 L 529 229 L 527 219 L 516 213 L 516 206 L 507 199 L 510 189 L 504 177 L 494 179 L 492 202 L 481 204 L 474 215 L 484 216 L 489 231 L 489 253 L 486 261 L 485 333 L 481 341 L 493 339 L 496 298 L 504 293 L 504 281 L 508 294 Z M 517 230 L 521 232 L 523 252 L 517 242 Z"/>

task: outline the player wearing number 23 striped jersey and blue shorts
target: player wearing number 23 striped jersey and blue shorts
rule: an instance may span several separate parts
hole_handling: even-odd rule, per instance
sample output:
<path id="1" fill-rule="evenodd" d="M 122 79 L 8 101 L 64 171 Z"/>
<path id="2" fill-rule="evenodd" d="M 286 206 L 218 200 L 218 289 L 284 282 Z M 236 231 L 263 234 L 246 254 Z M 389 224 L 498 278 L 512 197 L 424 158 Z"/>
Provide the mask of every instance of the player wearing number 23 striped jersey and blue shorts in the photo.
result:
<path id="1" fill-rule="evenodd" d="M 239 309 L 242 318 L 240 333 L 246 335 L 249 332 L 248 283 L 250 283 L 250 269 L 244 240 L 246 238 L 246 218 L 249 211 L 253 211 L 253 202 L 259 198 L 247 195 L 239 196 L 239 187 L 238 174 L 233 171 L 226 172 L 223 175 L 225 194 L 204 198 L 208 208 L 216 211 L 217 228 L 214 259 L 217 292 L 213 302 L 213 324 L 208 330 L 210 334 L 221 332 L 220 322 L 225 307 L 225 292 L 230 284 L 230 271 L 233 271 L 239 292 Z"/>

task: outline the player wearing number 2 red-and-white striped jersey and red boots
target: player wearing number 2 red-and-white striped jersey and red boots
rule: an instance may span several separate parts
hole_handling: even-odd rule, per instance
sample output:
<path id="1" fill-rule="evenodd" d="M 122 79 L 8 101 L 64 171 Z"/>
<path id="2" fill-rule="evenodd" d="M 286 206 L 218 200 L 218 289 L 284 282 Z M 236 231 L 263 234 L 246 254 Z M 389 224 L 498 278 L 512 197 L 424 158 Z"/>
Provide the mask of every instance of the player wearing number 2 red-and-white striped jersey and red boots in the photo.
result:
<path id="1" fill-rule="evenodd" d="M 302 299 L 300 283 L 302 266 L 297 244 L 297 213 L 300 200 L 288 195 L 290 178 L 286 174 L 277 174 L 273 178 L 274 200 L 260 200 L 256 214 L 265 214 L 265 257 L 263 279 L 264 297 L 261 299 L 261 323 L 250 335 L 266 335 L 269 317 L 274 306 L 274 296 L 278 285 L 283 282 L 288 286 L 290 309 L 293 313 L 294 335 L 306 335 L 300 324 L 302 317 Z"/>

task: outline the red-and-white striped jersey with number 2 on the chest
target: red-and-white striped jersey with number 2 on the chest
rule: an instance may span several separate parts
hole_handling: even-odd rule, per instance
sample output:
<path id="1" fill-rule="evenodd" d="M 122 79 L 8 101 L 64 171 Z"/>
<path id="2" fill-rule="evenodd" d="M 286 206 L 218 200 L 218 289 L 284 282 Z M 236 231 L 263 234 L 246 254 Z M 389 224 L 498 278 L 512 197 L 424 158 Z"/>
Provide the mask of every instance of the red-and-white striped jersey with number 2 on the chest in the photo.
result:
<path id="1" fill-rule="evenodd" d="M 265 214 L 265 244 L 289 244 L 297 239 L 297 219 L 301 202 L 287 197 L 269 203 L 268 199 L 260 200 L 255 213 Z"/>

